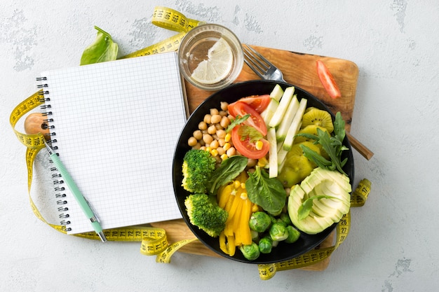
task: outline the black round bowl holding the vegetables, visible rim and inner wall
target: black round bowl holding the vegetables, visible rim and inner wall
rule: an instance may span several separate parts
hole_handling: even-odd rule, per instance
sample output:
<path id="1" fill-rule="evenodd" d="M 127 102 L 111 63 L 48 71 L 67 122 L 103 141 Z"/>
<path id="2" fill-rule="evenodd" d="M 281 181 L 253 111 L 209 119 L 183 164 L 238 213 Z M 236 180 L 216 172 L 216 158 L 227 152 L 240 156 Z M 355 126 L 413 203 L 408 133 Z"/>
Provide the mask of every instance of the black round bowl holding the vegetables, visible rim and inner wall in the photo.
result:
<path id="1" fill-rule="evenodd" d="M 208 246 L 209 249 L 215 251 L 221 256 L 225 258 L 230 258 L 231 260 L 238 260 L 244 263 L 277 263 L 284 260 L 290 260 L 295 258 L 296 256 L 300 256 L 302 253 L 306 253 L 311 249 L 315 248 L 325 240 L 325 238 L 330 235 L 332 230 L 335 229 L 337 224 L 333 224 L 330 228 L 323 230 L 316 235 L 307 235 L 306 233 L 301 234 L 299 240 L 293 244 L 287 244 L 284 242 L 280 242 L 276 248 L 273 248 L 271 253 L 262 254 L 257 258 L 257 260 L 247 260 L 243 257 L 240 251 L 236 251 L 234 256 L 228 256 L 224 252 L 219 249 L 219 239 L 210 237 L 203 230 L 200 230 L 196 226 L 192 225 L 189 221 L 189 217 L 187 216 L 186 208 L 184 207 L 184 199 L 189 195 L 187 190 L 182 188 L 182 162 L 184 154 L 189 151 L 191 147 L 187 145 L 187 140 L 192 136 L 192 133 L 198 129 L 198 123 L 203 120 L 203 117 L 206 113 L 210 112 L 210 109 L 215 108 L 219 109 L 220 102 L 235 102 L 237 99 L 241 97 L 246 97 L 249 95 L 265 95 L 270 94 L 271 90 L 273 90 L 276 84 L 281 85 L 281 87 L 285 90 L 285 88 L 289 86 L 294 86 L 288 83 L 278 82 L 278 81 L 245 81 L 243 83 L 236 83 L 234 85 L 230 85 L 223 90 L 219 90 L 215 92 L 210 97 L 205 99 L 205 101 L 198 106 L 198 108 L 191 114 L 189 119 L 187 120 L 186 125 L 184 126 L 180 138 L 177 142 L 177 147 L 175 149 L 174 162 L 173 162 L 173 185 L 175 198 L 177 200 L 177 204 L 180 208 L 180 212 L 186 221 L 189 229 L 194 232 L 196 237 L 200 239 L 205 246 Z M 311 95 L 309 92 L 302 90 L 301 88 L 297 88 L 295 86 L 295 93 L 297 94 L 297 99 L 306 98 L 308 100 L 307 106 L 314 106 L 318 109 L 323 109 L 331 113 L 330 109 L 325 106 L 320 100 Z M 333 113 L 331 113 L 332 119 L 335 119 Z M 348 158 L 348 162 L 344 166 L 344 171 L 348 174 L 349 179 L 353 181 L 353 155 L 351 151 L 351 145 L 347 137 L 344 139 L 344 145 L 349 148 L 349 151 L 344 151 L 344 156 Z"/>

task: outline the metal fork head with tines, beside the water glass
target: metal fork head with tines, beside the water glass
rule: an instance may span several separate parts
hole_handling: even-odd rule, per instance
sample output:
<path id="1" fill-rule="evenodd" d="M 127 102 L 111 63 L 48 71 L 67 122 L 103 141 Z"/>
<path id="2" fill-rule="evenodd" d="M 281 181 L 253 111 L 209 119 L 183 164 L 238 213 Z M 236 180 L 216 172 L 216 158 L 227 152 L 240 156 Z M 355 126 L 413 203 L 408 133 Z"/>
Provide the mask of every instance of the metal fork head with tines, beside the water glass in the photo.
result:
<path id="1" fill-rule="evenodd" d="M 257 53 L 252 47 L 243 45 L 244 62 L 248 64 L 259 77 L 267 80 L 283 81 L 283 75 L 281 70 L 274 66 L 269 60 L 266 60 L 264 56 Z"/>

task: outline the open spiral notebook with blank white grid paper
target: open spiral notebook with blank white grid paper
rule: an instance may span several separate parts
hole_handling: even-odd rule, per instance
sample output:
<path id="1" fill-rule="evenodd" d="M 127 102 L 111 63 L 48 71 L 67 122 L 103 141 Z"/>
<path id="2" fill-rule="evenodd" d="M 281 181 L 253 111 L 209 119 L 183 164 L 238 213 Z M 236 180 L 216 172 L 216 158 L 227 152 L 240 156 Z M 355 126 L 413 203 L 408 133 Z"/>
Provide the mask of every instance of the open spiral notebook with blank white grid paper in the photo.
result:
<path id="1" fill-rule="evenodd" d="M 187 119 L 176 53 L 45 71 L 51 143 L 100 219 L 120 228 L 181 218 L 172 182 L 173 153 Z M 60 223 L 93 231 L 55 177 Z"/>

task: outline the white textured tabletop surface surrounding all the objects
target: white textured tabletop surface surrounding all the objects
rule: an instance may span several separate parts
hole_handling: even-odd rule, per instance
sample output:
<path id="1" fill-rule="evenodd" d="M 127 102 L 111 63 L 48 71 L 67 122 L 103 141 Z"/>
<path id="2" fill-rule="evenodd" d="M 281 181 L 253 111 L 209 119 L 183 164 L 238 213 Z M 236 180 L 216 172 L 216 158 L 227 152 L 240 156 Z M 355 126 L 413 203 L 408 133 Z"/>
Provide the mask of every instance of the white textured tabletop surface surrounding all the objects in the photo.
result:
<path id="1" fill-rule="evenodd" d="M 438 1 L 255 2 L 1 1 L 0 291 L 438 291 Z M 219 258 L 156 264 L 138 243 L 68 237 L 32 213 L 11 111 L 41 71 L 79 64 L 94 25 L 120 55 L 172 35 L 151 25 L 154 6 L 225 25 L 243 43 L 358 64 L 351 133 L 375 155 L 354 153 L 354 185 L 370 179 L 372 192 L 327 270 L 261 281 L 255 266 Z"/>

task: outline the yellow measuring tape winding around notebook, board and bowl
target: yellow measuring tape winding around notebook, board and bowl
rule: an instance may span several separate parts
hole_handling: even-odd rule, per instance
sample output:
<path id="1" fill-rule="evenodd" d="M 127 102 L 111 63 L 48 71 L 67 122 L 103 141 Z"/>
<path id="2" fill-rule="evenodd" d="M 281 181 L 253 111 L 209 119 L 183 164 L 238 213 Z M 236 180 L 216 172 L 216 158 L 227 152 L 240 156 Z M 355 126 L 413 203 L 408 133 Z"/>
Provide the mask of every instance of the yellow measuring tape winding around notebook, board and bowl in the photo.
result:
<path id="1" fill-rule="evenodd" d="M 175 51 L 180 46 L 180 42 L 183 36 L 189 32 L 190 29 L 201 25 L 204 22 L 198 20 L 191 20 L 186 18 L 182 13 L 175 11 L 171 8 L 166 7 L 156 7 L 154 8 L 154 14 L 152 18 L 152 23 L 158 27 L 163 27 L 165 29 L 170 29 L 175 32 L 179 32 L 175 36 L 171 36 L 169 39 L 156 43 L 142 50 L 137 50 L 134 53 L 124 56 L 128 57 L 139 57 L 144 55 L 151 55 L 156 53 L 164 53 Z M 38 134 L 23 134 L 18 130 L 15 130 L 15 125 L 17 125 L 18 120 L 25 116 L 29 111 L 36 109 L 36 107 L 41 106 L 44 103 L 43 90 L 35 92 L 33 95 L 25 99 L 23 102 L 18 104 L 18 106 L 13 109 L 10 116 L 10 123 L 15 135 L 18 140 L 27 147 L 26 151 L 26 165 L 27 165 L 27 187 L 29 193 L 29 202 L 31 204 L 32 210 L 37 218 L 39 218 L 44 223 L 50 225 L 55 230 L 67 234 L 65 226 L 54 225 L 48 223 L 45 218 L 41 215 L 39 209 L 34 204 L 32 196 L 30 193 L 32 186 L 32 176 L 33 176 L 33 165 L 36 155 L 39 153 L 41 148 L 44 147 L 43 139 L 45 137 L 42 133 Z M 370 191 L 370 181 L 363 180 L 358 188 L 353 192 L 351 206 L 360 207 L 363 206 L 365 200 L 367 200 L 367 195 Z M 258 265 L 259 276 L 261 279 L 271 279 L 276 271 L 290 270 L 299 267 L 306 267 L 313 265 L 315 263 L 328 258 L 332 251 L 335 251 L 339 244 L 341 244 L 349 232 L 350 227 L 350 214 L 346 214 L 339 225 L 337 225 L 337 240 L 335 246 L 331 246 L 325 249 L 315 249 L 302 256 L 298 256 L 292 260 L 285 261 L 283 263 L 273 263 L 269 265 Z M 173 244 L 168 244 L 168 239 L 166 238 L 166 231 L 162 228 L 151 228 L 151 227 L 128 227 L 128 228 L 116 228 L 110 230 L 104 230 L 104 234 L 109 241 L 123 241 L 123 242 L 142 242 L 140 252 L 144 255 L 156 256 L 156 262 L 158 263 L 170 263 L 170 258 L 182 246 L 194 242 L 194 239 L 184 239 L 180 242 L 175 242 Z M 99 239 L 95 232 L 84 232 L 81 234 L 74 235 L 77 237 L 83 237 L 87 239 Z"/>

